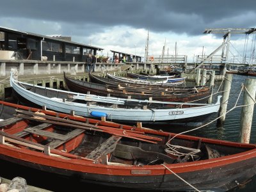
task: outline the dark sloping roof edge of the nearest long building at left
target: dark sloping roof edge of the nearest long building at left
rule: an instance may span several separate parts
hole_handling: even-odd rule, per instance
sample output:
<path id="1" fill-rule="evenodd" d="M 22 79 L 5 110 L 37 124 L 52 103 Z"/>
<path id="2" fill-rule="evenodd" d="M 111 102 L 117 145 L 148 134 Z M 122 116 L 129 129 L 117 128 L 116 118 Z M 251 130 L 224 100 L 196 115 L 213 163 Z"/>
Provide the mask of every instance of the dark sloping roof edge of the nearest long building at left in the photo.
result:
<path id="1" fill-rule="evenodd" d="M 75 45 L 80 45 L 80 46 L 83 46 L 83 47 L 91 47 L 91 48 L 94 48 L 94 49 L 103 50 L 100 47 L 95 47 L 95 46 L 92 46 L 92 45 L 79 44 L 77 42 L 71 42 L 71 41 L 68 41 L 68 40 L 60 39 L 60 38 L 54 38 L 54 37 L 46 36 L 46 35 L 38 35 L 36 33 L 29 33 L 29 32 L 26 32 L 26 31 L 18 31 L 18 30 L 15 30 L 15 29 L 4 28 L 4 27 L 1 27 L 1 26 L 0 26 L 0 31 L 18 33 L 18 34 L 21 34 L 21 35 L 36 36 L 36 37 L 46 38 L 46 39 L 50 39 L 50 40 L 54 40 L 54 41 L 58 41 L 58 42 L 65 42 L 67 44 L 75 44 Z"/>

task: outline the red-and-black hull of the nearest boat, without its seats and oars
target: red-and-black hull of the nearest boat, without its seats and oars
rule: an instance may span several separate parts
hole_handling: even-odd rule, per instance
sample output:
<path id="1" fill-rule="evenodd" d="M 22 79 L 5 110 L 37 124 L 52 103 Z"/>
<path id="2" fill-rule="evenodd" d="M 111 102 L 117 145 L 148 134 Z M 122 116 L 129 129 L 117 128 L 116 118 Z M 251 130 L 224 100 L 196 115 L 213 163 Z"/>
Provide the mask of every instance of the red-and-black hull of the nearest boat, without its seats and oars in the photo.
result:
<path id="1" fill-rule="evenodd" d="M 0 101 L 1 104 L 6 104 Z M 27 109 L 31 111 L 38 111 L 35 108 L 27 108 L 10 104 L 15 108 Z M 67 114 L 55 113 L 53 111 L 44 111 L 47 115 L 60 116 L 71 119 L 86 121 L 86 118 L 79 116 L 70 116 Z M 101 122 L 99 120 L 88 119 L 89 122 L 98 123 L 99 125 L 109 125 L 111 127 L 120 127 L 120 124 L 112 122 Z M 28 121 L 21 120 L 15 126 L 7 126 L 4 128 L 5 134 L 22 131 L 26 127 Z M 122 125 L 122 129 L 135 129 L 136 131 L 143 131 L 150 135 L 158 135 L 161 138 L 170 138 L 175 136 L 168 132 L 159 132 L 150 129 L 136 129 L 128 125 Z M 47 128 L 47 129 L 51 129 Z M 234 143 L 229 141 L 211 140 L 207 138 L 198 138 L 195 136 L 177 136 L 179 140 L 208 143 L 209 145 L 220 145 L 220 148 L 227 148 L 227 150 L 239 150 L 237 154 L 226 155 L 223 157 L 204 159 L 200 161 L 165 164 L 164 166 L 172 170 L 175 174 L 182 177 L 182 179 L 189 182 L 195 188 L 200 190 L 207 189 L 221 189 L 228 190 L 240 186 L 256 174 L 256 146 L 252 144 Z M 79 141 L 83 138 L 73 138 L 72 141 L 66 145 L 66 150 L 74 150 Z M 27 137 L 28 141 L 40 141 L 43 138 L 37 136 Z M 164 141 L 163 141 L 164 142 Z M 146 143 L 145 146 L 148 144 Z M 151 145 L 151 144 L 150 144 Z M 154 146 L 154 145 L 152 145 Z M 62 150 L 58 147 L 56 150 Z M 53 150 L 52 150 L 53 152 Z M 56 152 L 56 151 L 54 151 Z M 45 153 L 36 150 L 29 150 L 29 148 L 20 147 L 20 145 L 4 145 L 0 143 L 0 159 L 10 161 L 12 163 L 22 164 L 45 172 L 58 173 L 67 177 L 76 177 L 84 182 L 91 182 L 95 184 L 102 184 L 106 186 L 116 186 L 122 188 L 134 188 L 144 190 L 172 190 L 172 191 L 191 191 L 193 190 L 188 184 L 180 180 L 170 170 L 167 170 L 163 164 L 143 165 L 143 166 L 117 166 L 109 164 L 100 164 L 97 161 L 90 159 L 81 159 L 75 154 L 68 154 L 65 152 L 58 152 L 59 155 L 64 156 L 49 156 Z"/>

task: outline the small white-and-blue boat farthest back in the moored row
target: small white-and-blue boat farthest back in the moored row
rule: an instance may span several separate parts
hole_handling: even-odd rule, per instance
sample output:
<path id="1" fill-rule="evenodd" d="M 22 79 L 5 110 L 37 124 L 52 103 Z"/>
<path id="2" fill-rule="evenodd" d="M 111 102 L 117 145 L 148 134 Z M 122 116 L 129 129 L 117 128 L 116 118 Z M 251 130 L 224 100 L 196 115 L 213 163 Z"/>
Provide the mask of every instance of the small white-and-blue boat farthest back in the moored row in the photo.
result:
<path id="1" fill-rule="evenodd" d="M 167 79 L 167 83 L 177 83 L 177 82 L 183 82 L 186 77 L 174 77 L 174 76 L 144 76 L 140 74 L 131 74 L 127 73 L 127 76 L 132 77 L 134 79 L 146 79 L 146 80 L 157 80 L 162 79 L 163 81 Z"/>

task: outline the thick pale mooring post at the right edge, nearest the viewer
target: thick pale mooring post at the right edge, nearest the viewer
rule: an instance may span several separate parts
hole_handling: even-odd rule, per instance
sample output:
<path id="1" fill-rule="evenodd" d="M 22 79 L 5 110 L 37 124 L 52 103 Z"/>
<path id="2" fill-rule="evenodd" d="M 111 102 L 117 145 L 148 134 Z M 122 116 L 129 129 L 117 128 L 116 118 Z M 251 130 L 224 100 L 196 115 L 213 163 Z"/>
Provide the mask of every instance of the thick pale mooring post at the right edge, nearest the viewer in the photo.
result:
<path id="1" fill-rule="evenodd" d="M 246 79 L 244 84 L 244 100 L 241 113 L 240 135 L 241 143 L 250 142 L 250 133 L 252 128 L 253 109 L 255 104 L 256 79 Z"/>

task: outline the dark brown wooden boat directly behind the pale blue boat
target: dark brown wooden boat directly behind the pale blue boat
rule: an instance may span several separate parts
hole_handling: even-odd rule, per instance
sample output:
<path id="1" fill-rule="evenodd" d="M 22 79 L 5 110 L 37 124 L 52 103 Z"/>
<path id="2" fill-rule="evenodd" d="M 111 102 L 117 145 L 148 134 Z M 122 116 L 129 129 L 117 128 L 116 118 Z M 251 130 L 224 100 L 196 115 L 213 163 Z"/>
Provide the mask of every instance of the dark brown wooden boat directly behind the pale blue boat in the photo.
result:
<path id="1" fill-rule="evenodd" d="M 195 88 L 191 90 L 182 89 L 171 89 L 168 90 L 145 90 L 144 88 L 134 88 L 134 87 L 122 87 L 114 88 L 113 86 L 106 87 L 106 85 L 97 83 L 88 83 L 86 81 L 79 81 L 76 79 L 71 79 L 67 77 L 64 73 L 64 80 L 68 89 L 72 92 L 79 93 L 92 93 L 95 95 L 120 97 L 127 98 L 130 96 L 132 99 L 148 100 L 150 97 L 152 100 L 161 100 L 166 102 L 196 102 L 205 103 L 211 95 L 211 90 L 209 88 Z M 120 90 L 122 89 L 122 91 Z"/>

